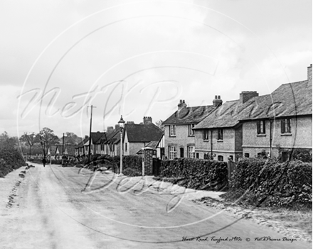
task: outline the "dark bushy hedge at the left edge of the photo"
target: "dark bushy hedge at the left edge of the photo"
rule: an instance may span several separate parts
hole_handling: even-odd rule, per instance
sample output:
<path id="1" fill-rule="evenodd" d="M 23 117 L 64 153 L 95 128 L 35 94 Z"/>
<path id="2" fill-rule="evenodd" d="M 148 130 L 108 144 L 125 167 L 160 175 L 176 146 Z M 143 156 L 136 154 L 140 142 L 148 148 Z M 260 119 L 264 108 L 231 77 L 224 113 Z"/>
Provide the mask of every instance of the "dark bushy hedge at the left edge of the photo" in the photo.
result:
<path id="1" fill-rule="evenodd" d="M 25 165 L 23 156 L 14 145 L 6 142 L 0 145 L 0 177 L 5 177 L 9 172 Z"/>

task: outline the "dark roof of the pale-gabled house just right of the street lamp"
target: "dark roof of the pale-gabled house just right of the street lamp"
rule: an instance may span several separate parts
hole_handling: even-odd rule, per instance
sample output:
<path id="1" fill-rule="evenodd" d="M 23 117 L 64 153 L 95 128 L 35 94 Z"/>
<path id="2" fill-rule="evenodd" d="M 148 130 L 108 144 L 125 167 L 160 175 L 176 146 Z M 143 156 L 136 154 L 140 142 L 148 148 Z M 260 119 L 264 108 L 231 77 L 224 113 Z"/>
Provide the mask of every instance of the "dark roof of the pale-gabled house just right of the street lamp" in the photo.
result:
<path id="1" fill-rule="evenodd" d="M 163 135 L 163 131 L 154 123 L 126 124 L 124 131 L 127 133 L 129 143 L 149 143 L 159 140 Z"/>

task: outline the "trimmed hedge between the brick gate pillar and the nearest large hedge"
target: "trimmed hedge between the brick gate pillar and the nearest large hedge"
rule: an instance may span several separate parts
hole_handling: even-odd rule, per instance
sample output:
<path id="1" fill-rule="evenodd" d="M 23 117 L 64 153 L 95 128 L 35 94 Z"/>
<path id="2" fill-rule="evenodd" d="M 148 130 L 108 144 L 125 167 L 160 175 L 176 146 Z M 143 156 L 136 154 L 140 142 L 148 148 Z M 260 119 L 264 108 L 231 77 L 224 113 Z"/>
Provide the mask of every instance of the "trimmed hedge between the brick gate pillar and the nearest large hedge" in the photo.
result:
<path id="1" fill-rule="evenodd" d="M 183 187 L 201 190 L 218 190 L 228 182 L 227 162 L 181 158 L 161 161 L 160 178 Z"/>

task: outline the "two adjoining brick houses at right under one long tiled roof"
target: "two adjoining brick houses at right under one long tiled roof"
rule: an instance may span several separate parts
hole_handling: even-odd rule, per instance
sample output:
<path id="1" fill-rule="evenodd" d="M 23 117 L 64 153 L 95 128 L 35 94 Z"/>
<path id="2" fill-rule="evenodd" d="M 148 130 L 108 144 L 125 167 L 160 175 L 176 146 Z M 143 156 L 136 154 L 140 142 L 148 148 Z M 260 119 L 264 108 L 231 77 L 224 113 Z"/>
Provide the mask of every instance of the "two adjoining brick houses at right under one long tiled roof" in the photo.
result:
<path id="1" fill-rule="evenodd" d="M 193 128 L 196 153 L 204 159 L 282 157 L 312 151 L 312 65 L 308 79 L 282 84 L 272 94 L 242 92 Z"/>

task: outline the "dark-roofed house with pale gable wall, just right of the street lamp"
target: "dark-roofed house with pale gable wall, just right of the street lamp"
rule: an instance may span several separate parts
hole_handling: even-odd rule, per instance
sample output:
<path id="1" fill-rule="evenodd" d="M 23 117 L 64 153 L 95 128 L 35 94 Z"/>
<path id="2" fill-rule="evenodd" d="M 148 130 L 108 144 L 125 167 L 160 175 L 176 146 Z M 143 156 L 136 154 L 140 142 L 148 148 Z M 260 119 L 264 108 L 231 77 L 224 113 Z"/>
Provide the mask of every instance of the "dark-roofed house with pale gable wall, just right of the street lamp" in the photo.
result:
<path id="1" fill-rule="evenodd" d="M 151 117 L 144 117 L 143 123 L 127 122 L 123 134 L 124 155 L 137 155 L 152 141 L 159 142 L 163 131 L 152 123 Z"/>

